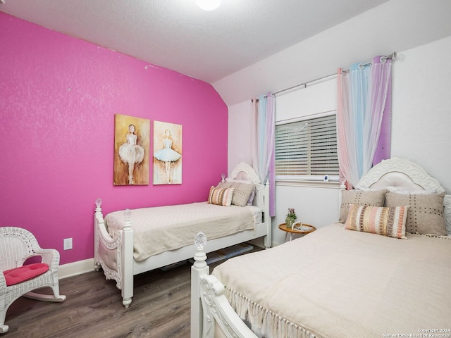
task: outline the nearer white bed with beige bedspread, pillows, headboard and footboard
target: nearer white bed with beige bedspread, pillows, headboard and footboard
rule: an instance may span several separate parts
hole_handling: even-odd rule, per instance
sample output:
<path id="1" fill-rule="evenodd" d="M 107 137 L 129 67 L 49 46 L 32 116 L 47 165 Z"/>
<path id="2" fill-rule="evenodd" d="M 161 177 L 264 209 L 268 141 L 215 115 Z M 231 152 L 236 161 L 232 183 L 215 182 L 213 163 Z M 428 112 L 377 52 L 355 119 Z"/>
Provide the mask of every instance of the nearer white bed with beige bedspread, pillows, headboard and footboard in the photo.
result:
<path id="1" fill-rule="evenodd" d="M 212 275 L 199 234 L 191 338 L 451 337 L 444 192 L 419 165 L 385 160 L 340 191 L 342 223 L 230 258 Z"/>

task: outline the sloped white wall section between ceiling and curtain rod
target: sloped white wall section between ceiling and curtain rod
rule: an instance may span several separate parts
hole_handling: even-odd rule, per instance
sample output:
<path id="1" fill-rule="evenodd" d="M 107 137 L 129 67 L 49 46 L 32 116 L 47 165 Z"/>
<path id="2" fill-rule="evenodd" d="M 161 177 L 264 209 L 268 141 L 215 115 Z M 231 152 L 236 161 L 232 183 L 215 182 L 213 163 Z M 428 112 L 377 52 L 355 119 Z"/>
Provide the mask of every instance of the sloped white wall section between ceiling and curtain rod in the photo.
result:
<path id="1" fill-rule="evenodd" d="M 450 0 L 390 0 L 214 82 L 228 106 L 451 35 Z M 321 18 L 319 18 L 321 20 Z M 262 39 L 261 43 L 264 43 Z"/>

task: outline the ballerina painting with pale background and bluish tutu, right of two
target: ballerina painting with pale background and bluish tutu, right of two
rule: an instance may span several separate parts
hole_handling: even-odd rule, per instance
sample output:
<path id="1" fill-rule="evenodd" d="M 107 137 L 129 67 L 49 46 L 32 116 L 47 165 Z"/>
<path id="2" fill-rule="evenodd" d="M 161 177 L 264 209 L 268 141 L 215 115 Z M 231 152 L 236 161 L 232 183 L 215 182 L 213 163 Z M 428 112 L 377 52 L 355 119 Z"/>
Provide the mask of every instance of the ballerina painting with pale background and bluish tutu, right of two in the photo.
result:
<path id="1" fill-rule="evenodd" d="M 154 184 L 182 183 L 182 125 L 154 121 Z"/>

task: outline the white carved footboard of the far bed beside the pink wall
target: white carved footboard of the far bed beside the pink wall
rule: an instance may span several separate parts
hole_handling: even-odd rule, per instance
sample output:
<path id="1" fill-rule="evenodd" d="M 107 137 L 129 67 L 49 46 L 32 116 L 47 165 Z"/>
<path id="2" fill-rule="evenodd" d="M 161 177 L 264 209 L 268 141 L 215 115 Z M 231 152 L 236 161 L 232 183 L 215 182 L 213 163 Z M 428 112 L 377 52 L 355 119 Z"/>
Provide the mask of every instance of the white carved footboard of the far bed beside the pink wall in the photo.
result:
<path id="1" fill-rule="evenodd" d="M 121 290 L 122 303 L 128 308 L 133 296 L 133 231 L 130 211 L 124 213 L 123 230 L 113 239 L 106 230 L 104 215 L 101 212 L 101 199 L 96 200 L 94 213 L 94 268 L 104 270 L 107 280 L 116 280 Z"/>

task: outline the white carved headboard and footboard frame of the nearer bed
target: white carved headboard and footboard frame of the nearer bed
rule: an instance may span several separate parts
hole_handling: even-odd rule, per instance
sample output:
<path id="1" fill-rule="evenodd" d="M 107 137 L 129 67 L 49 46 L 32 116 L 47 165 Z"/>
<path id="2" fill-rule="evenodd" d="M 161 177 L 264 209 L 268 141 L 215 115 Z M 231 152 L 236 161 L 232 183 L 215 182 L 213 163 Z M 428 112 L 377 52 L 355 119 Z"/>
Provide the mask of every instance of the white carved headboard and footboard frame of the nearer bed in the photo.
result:
<path id="1" fill-rule="evenodd" d="M 438 180 L 419 165 L 403 158 L 384 160 L 371 168 L 357 185 L 359 189 L 370 187 L 445 192 Z M 447 232 L 451 234 L 451 195 L 445 195 L 443 206 Z M 233 311 L 224 294 L 224 285 L 214 275 L 209 275 L 204 251 L 205 235 L 197 234 L 194 242 L 197 253 L 191 268 L 191 338 L 258 338 Z"/>

